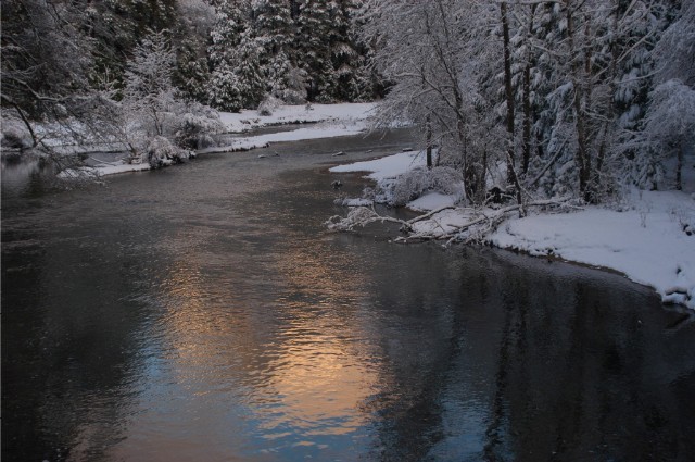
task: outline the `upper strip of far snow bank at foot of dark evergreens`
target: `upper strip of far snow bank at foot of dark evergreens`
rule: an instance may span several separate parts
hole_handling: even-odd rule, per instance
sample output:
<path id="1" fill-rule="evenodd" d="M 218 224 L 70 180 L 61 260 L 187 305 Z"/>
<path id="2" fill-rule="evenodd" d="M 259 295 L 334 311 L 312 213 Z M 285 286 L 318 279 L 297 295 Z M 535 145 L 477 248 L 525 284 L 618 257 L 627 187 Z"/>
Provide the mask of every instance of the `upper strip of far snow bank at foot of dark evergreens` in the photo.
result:
<path id="1" fill-rule="evenodd" d="M 376 103 L 302 104 L 281 105 L 271 115 L 260 115 L 257 111 L 242 110 L 240 113 L 220 112 L 219 117 L 229 133 L 248 132 L 253 128 L 302 124 L 326 121 L 365 121 Z"/>

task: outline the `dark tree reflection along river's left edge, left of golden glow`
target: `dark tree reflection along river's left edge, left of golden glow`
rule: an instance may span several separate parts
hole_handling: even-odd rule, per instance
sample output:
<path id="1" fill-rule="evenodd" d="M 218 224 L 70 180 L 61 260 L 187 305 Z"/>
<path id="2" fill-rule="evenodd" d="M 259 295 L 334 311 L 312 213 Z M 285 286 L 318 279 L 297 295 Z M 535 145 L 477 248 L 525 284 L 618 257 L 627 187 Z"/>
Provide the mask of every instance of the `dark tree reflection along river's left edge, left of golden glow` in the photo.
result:
<path id="1" fill-rule="evenodd" d="M 3 235 L 3 459 L 94 460 L 121 437 L 147 317 L 130 296 L 149 272 L 122 252 L 128 229 L 111 225 L 15 223 Z"/>

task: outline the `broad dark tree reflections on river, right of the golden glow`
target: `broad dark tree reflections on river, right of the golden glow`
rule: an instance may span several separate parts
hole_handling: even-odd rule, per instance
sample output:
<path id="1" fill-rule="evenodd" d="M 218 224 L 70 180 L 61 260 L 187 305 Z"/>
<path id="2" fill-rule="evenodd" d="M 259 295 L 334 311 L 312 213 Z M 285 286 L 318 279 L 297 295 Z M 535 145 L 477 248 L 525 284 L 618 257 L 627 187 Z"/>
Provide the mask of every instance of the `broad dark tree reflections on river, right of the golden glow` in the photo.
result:
<path id="1" fill-rule="evenodd" d="M 695 364 L 673 354 L 675 346 L 687 351 L 692 326 L 680 336 L 662 333 L 680 314 L 619 277 L 495 260 L 469 259 L 450 274 L 460 287 L 407 279 L 393 285 L 400 290 L 380 288 L 375 329 L 387 362 L 382 391 L 365 407 L 378 416 L 374 454 L 678 460 L 692 453 L 694 414 L 680 398 L 693 374 L 678 386 L 662 377 Z M 448 303 L 432 305 L 433 292 Z"/>

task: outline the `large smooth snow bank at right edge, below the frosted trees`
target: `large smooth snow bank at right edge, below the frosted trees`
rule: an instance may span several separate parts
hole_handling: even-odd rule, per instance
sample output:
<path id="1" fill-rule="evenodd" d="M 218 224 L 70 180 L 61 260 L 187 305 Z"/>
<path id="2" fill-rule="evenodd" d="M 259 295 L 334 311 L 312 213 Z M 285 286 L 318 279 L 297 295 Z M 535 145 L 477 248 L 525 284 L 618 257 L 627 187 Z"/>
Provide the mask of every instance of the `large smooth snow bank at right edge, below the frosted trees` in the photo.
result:
<path id="1" fill-rule="evenodd" d="M 507 222 L 490 240 L 534 255 L 609 267 L 654 287 L 665 301 L 695 309 L 695 200 L 687 193 L 643 191 L 632 208 L 598 207 Z"/>

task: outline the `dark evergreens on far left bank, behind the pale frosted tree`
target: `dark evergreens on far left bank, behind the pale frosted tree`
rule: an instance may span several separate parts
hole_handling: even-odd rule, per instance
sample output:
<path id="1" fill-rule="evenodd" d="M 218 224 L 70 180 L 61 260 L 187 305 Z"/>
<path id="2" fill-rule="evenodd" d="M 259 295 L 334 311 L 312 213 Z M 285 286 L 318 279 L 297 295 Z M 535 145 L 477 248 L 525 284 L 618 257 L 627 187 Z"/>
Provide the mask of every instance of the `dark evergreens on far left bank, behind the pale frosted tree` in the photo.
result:
<path id="1" fill-rule="evenodd" d="M 378 77 L 357 34 L 358 0 L 8 0 L 2 8 L 3 104 L 125 85 L 136 47 L 165 30 L 174 85 L 225 111 L 286 102 L 371 100 Z"/>

